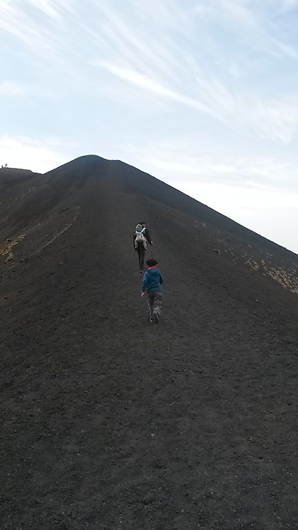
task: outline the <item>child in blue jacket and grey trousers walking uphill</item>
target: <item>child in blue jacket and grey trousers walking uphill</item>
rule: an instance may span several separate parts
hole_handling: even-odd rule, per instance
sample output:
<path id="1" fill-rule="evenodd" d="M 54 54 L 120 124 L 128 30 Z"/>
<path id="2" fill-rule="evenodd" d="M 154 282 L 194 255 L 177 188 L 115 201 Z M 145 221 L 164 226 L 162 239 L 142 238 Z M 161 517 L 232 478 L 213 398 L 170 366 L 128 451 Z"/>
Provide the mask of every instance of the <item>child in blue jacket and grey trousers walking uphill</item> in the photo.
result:
<path id="1" fill-rule="evenodd" d="M 161 284 L 163 279 L 159 268 L 157 268 L 156 259 L 147 259 L 148 271 L 144 274 L 142 282 L 141 296 L 148 293 L 149 320 L 155 324 L 159 323 L 161 311 Z"/>

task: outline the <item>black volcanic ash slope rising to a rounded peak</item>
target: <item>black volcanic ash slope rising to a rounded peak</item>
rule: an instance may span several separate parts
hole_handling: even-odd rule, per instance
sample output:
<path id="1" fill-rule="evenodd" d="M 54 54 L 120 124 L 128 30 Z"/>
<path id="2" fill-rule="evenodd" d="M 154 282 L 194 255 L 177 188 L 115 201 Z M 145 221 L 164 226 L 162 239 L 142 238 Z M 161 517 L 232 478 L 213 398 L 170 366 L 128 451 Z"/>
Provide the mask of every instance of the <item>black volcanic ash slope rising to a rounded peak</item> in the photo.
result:
<path id="1" fill-rule="evenodd" d="M 1 528 L 295 528 L 297 255 L 96 156 L 0 194 Z"/>

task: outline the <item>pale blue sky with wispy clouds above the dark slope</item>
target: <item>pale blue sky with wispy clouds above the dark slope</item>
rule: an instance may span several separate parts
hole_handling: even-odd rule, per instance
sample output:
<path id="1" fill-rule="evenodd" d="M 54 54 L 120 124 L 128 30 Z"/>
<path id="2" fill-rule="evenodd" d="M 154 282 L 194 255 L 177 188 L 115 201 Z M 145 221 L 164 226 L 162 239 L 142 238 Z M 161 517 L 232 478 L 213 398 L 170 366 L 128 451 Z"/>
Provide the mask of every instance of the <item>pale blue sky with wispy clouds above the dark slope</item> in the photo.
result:
<path id="1" fill-rule="evenodd" d="M 0 163 L 123 160 L 298 253 L 298 0 L 0 0 Z"/>

